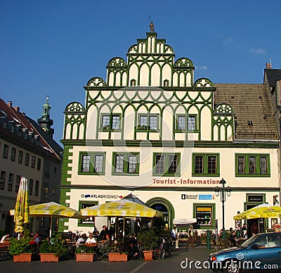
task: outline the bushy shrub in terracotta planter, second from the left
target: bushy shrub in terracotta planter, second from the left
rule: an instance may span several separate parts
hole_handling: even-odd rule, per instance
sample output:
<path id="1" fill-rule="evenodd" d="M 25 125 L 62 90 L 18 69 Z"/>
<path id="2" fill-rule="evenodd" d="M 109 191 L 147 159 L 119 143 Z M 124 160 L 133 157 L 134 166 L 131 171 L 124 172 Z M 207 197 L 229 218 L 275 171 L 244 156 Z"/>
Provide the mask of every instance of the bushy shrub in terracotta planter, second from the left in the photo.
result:
<path id="1" fill-rule="evenodd" d="M 39 247 L 41 262 L 58 262 L 58 258 L 67 253 L 65 241 L 59 235 L 51 239 L 44 240 Z"/>

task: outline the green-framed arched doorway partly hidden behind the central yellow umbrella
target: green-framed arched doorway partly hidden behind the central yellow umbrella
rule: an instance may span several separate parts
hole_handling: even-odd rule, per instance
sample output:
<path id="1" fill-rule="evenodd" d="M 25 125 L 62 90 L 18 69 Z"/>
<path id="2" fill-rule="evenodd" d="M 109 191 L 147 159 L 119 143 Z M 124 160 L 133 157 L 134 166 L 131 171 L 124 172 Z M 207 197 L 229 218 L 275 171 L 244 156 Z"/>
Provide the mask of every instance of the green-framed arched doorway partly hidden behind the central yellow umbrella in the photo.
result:
<path id="1" fill-rule="evenodd" d="M 173 205 L 166 199 L 155 197 L 146 202 L 146 204 L 155 210 L 159 210 L 163 213 L 164 223 L 168 225 L 168 228 L 173 227 L 173 220 L 175 217 L 175 210 Z"/>

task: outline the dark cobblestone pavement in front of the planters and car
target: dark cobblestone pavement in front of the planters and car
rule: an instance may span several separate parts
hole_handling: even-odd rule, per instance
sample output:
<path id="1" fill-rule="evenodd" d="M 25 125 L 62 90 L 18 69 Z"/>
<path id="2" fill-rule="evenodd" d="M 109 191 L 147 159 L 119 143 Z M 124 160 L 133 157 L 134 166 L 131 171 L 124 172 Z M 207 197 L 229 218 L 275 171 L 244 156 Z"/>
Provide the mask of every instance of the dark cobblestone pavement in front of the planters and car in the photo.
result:
<path id="1" fill-rule="evenodd" d="M 181 247 L 173 250 L 171 256 L 164 260 L 131 260 L 128 262 L 108 262 L 108 259 L 95 262 L 75 262 L 75 260 L 65 260 L 61 262 L 13 262 L 11 260 L 0 262 L 0 272 L 212 272 L 210 269 L 195 269 L 190 261 L 206 261 L 211 250 L 206 247 L 197 246 L 195 248 Z M 187 263 L 188 262 L 188 263 Z M 186 269 L 182 266 L 188 265 Z"/>

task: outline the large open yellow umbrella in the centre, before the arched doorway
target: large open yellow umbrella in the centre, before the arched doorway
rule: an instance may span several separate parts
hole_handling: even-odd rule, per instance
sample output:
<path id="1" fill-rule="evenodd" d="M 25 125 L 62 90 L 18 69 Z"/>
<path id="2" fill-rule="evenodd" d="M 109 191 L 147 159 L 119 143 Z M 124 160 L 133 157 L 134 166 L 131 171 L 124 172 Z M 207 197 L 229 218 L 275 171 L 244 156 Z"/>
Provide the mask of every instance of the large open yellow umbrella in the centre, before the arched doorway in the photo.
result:
<path id="1" fill-rule="evenodd" d="M 162 212 L 126 199 L 94 205 L 80 210 L 84 216 L 107 217 L 162 217 Z"/>

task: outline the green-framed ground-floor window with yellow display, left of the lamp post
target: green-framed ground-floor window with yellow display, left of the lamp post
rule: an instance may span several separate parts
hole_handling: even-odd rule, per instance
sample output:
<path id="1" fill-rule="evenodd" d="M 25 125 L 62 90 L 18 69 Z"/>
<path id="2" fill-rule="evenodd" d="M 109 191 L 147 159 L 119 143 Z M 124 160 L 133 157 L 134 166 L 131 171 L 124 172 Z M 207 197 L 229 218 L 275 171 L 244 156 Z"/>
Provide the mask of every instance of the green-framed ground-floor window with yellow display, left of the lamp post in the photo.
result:
<path id="1" fill-rule="evenodd" d="M 197 219 L 196 229 L 214 229 L 216 227 L 216 204 L 193 203 L 193 217 Z"/>

